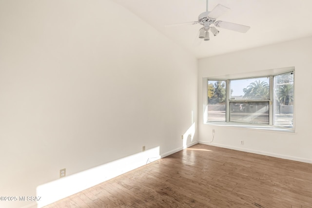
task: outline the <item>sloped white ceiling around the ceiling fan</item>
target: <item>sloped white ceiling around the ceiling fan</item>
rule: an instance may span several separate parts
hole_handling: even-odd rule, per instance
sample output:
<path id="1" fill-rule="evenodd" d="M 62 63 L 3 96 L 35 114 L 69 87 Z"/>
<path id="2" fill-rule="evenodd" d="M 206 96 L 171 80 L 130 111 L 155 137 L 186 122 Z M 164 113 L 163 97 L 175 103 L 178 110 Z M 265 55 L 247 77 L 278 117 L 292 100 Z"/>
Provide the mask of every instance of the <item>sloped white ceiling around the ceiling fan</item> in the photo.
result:
<path id="1" fill-rule="evenodd" d="M 217 4 L 231 9 L 217 20 L 251 26 L 247 33 L 219 28 L 219 35 L 210 35 L 209 41 L 198 38 L 199 24 L 165 27 L 173 23 L 197 21 L 198 15 L 206 11 L 206 0 L 113 1 L 197 58 L 312 36 L 312 0 L 209 0 L 209 11 Z"/>

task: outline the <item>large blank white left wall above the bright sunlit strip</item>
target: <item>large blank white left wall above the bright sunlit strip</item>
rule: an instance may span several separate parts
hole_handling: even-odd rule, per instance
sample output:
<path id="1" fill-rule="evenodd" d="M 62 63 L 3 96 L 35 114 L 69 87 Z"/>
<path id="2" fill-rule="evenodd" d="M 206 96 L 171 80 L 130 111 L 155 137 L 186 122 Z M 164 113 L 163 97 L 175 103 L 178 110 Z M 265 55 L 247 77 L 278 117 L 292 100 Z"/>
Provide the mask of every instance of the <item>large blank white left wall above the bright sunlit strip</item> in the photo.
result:
<path id="1" fill-rule="evenodd" d="M 0 2 L 0 196 L 36 196 L 60 169 L 144 145 L 182 148 L 197 121 L 195 57 L 110 0 Z"/>

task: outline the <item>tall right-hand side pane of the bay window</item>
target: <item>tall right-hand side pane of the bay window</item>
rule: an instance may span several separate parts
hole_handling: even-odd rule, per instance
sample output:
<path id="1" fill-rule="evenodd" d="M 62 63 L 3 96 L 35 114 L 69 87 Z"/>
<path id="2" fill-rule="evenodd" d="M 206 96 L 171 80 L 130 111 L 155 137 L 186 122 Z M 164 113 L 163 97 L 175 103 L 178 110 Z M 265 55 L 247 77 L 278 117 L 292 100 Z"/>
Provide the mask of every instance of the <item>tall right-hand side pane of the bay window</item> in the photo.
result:
<path id="1" fill-rule="evenodd" d="M 274 76 L 274 125 L 293 128 L 293 73 Z"/>

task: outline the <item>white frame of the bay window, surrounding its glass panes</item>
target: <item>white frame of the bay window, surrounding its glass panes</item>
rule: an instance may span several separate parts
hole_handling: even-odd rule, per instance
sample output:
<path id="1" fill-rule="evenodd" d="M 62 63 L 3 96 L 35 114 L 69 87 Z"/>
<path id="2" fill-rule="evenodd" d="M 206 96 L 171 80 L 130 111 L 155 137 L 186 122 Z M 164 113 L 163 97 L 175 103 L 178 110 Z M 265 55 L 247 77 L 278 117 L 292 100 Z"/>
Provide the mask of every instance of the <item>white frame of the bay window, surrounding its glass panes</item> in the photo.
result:
<path id="1" fill-rule="evenodd" d="M 292 128 L 281 127 L 274 125 L 275 117 L 275 99 L 274 99 L 274 76 L 292 73 L 293 75 L 293 114 L 292 114 Z M 255 72 L 255 76 L 252 76 L 251 73 L 237 74 L 237 75 L 226 75 L 226 76 L 211 76 L 203 77 L 203 123 L 208 125 L 218 125 L 218 126 L 235 126 L 243 127 L 250 129 L 261 129 L 261 130 L 274 130 L 282 132 L 295 132 L 295 69 L 294 67 L 281 68 L 281 69 L 272 69 L 272 70 L 263 70 Z M 231 89 L 230 81 L 239 80 L 239 79 L 252 79 L 260 77 L 269 77 L 269 100 L 234 100 L 231 99 Z M 208 121 L 208 81 L 226 81 L 226 121 Z M 269 102 L 269 124 L 254 124 L 254 123 L 243 123 L 230 121 L 230 103 L 231 102 L 259 102 L 265 101 Z"/>

